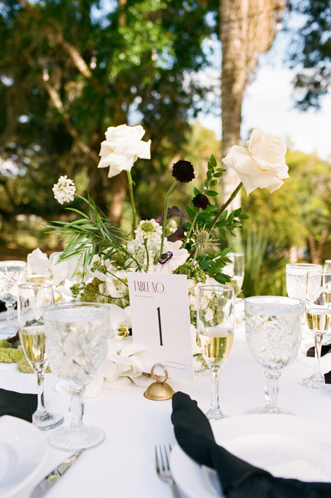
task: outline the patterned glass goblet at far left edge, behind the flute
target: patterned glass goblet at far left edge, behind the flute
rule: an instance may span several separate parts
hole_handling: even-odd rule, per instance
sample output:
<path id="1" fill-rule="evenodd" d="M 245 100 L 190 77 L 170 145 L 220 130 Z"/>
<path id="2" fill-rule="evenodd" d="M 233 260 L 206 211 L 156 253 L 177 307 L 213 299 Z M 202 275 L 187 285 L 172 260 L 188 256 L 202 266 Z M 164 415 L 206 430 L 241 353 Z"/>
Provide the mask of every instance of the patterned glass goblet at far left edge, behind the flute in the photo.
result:
<path id="1" fill-rule="evenodd" d="M 0 261 L 0 301 L 7 309 L 7 326 L 3 332 L 14 335 L 17 332 L 15 323 L 18 285 L 26 281 L 25 261 Z"/>

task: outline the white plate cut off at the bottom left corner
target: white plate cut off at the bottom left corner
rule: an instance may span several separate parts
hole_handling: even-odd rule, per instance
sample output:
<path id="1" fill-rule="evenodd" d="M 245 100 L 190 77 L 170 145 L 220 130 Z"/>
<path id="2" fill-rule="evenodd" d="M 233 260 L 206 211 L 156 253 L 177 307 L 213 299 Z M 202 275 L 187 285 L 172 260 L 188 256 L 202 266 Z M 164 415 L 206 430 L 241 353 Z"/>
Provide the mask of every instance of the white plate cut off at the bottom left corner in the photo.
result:
<path id="1" fill-rule="evenodd" d="M 17 417 L 0 417 L 0 496 L 9 498 L 21 491 L 45 461 L 45 435 Z"/>

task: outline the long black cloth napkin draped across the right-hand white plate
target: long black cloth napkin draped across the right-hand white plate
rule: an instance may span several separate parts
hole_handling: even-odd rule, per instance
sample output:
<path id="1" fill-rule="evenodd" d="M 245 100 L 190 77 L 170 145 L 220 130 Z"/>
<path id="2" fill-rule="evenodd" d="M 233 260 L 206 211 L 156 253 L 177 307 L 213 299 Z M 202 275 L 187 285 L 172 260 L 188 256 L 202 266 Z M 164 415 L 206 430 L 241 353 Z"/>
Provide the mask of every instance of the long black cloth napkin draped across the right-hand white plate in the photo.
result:
<path id="1" fill-rule="evenodd" d="M 183 392 L 172 396 L 171 422 L 181 449 L 195 462 L 215 469 L 227 498 L 330 498 L 331 484 L 273 477 L 215 442 L 207 417 Z"/>

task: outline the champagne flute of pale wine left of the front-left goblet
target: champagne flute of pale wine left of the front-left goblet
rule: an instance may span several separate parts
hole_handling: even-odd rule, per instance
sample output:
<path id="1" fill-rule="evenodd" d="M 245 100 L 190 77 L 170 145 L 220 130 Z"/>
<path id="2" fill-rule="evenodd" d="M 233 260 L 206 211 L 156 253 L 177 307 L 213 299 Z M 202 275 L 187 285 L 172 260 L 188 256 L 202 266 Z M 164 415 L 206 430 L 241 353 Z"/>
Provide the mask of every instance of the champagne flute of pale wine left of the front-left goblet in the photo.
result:
<path id="1" fill-rule="evenodd" d="M 50 413 L 44 404 L 44 376 L 48 365 L 45 347 L 43 314 L 46 306 L 54 303 L 53 287 L 48 283 L 24 283 L 18 286 L 18 334 L 24 355 L 37 374 L 38 405 L 32 423 L 41 430 L 62 424 L 64 418 Z"/>

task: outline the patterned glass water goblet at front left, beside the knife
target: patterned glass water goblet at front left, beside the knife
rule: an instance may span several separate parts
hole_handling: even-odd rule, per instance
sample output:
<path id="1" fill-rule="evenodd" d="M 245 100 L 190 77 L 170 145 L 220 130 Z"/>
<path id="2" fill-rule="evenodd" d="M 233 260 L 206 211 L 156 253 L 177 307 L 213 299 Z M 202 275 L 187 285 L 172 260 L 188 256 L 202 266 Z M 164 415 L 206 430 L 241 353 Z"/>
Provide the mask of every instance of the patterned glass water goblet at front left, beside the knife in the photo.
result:
<path id="1" fill-rule="evenodd" d="M 83 425 L 85 384 L 97 376 L 107 355 L 110 309 L 107 304 L 74 302 L 49 306 L 45 310 L 47 355 L 51 369 L 69 382 L 69 427 L 48 437 L 55 448 L 75 451 L 102 443 L 104 432 Z"/>

